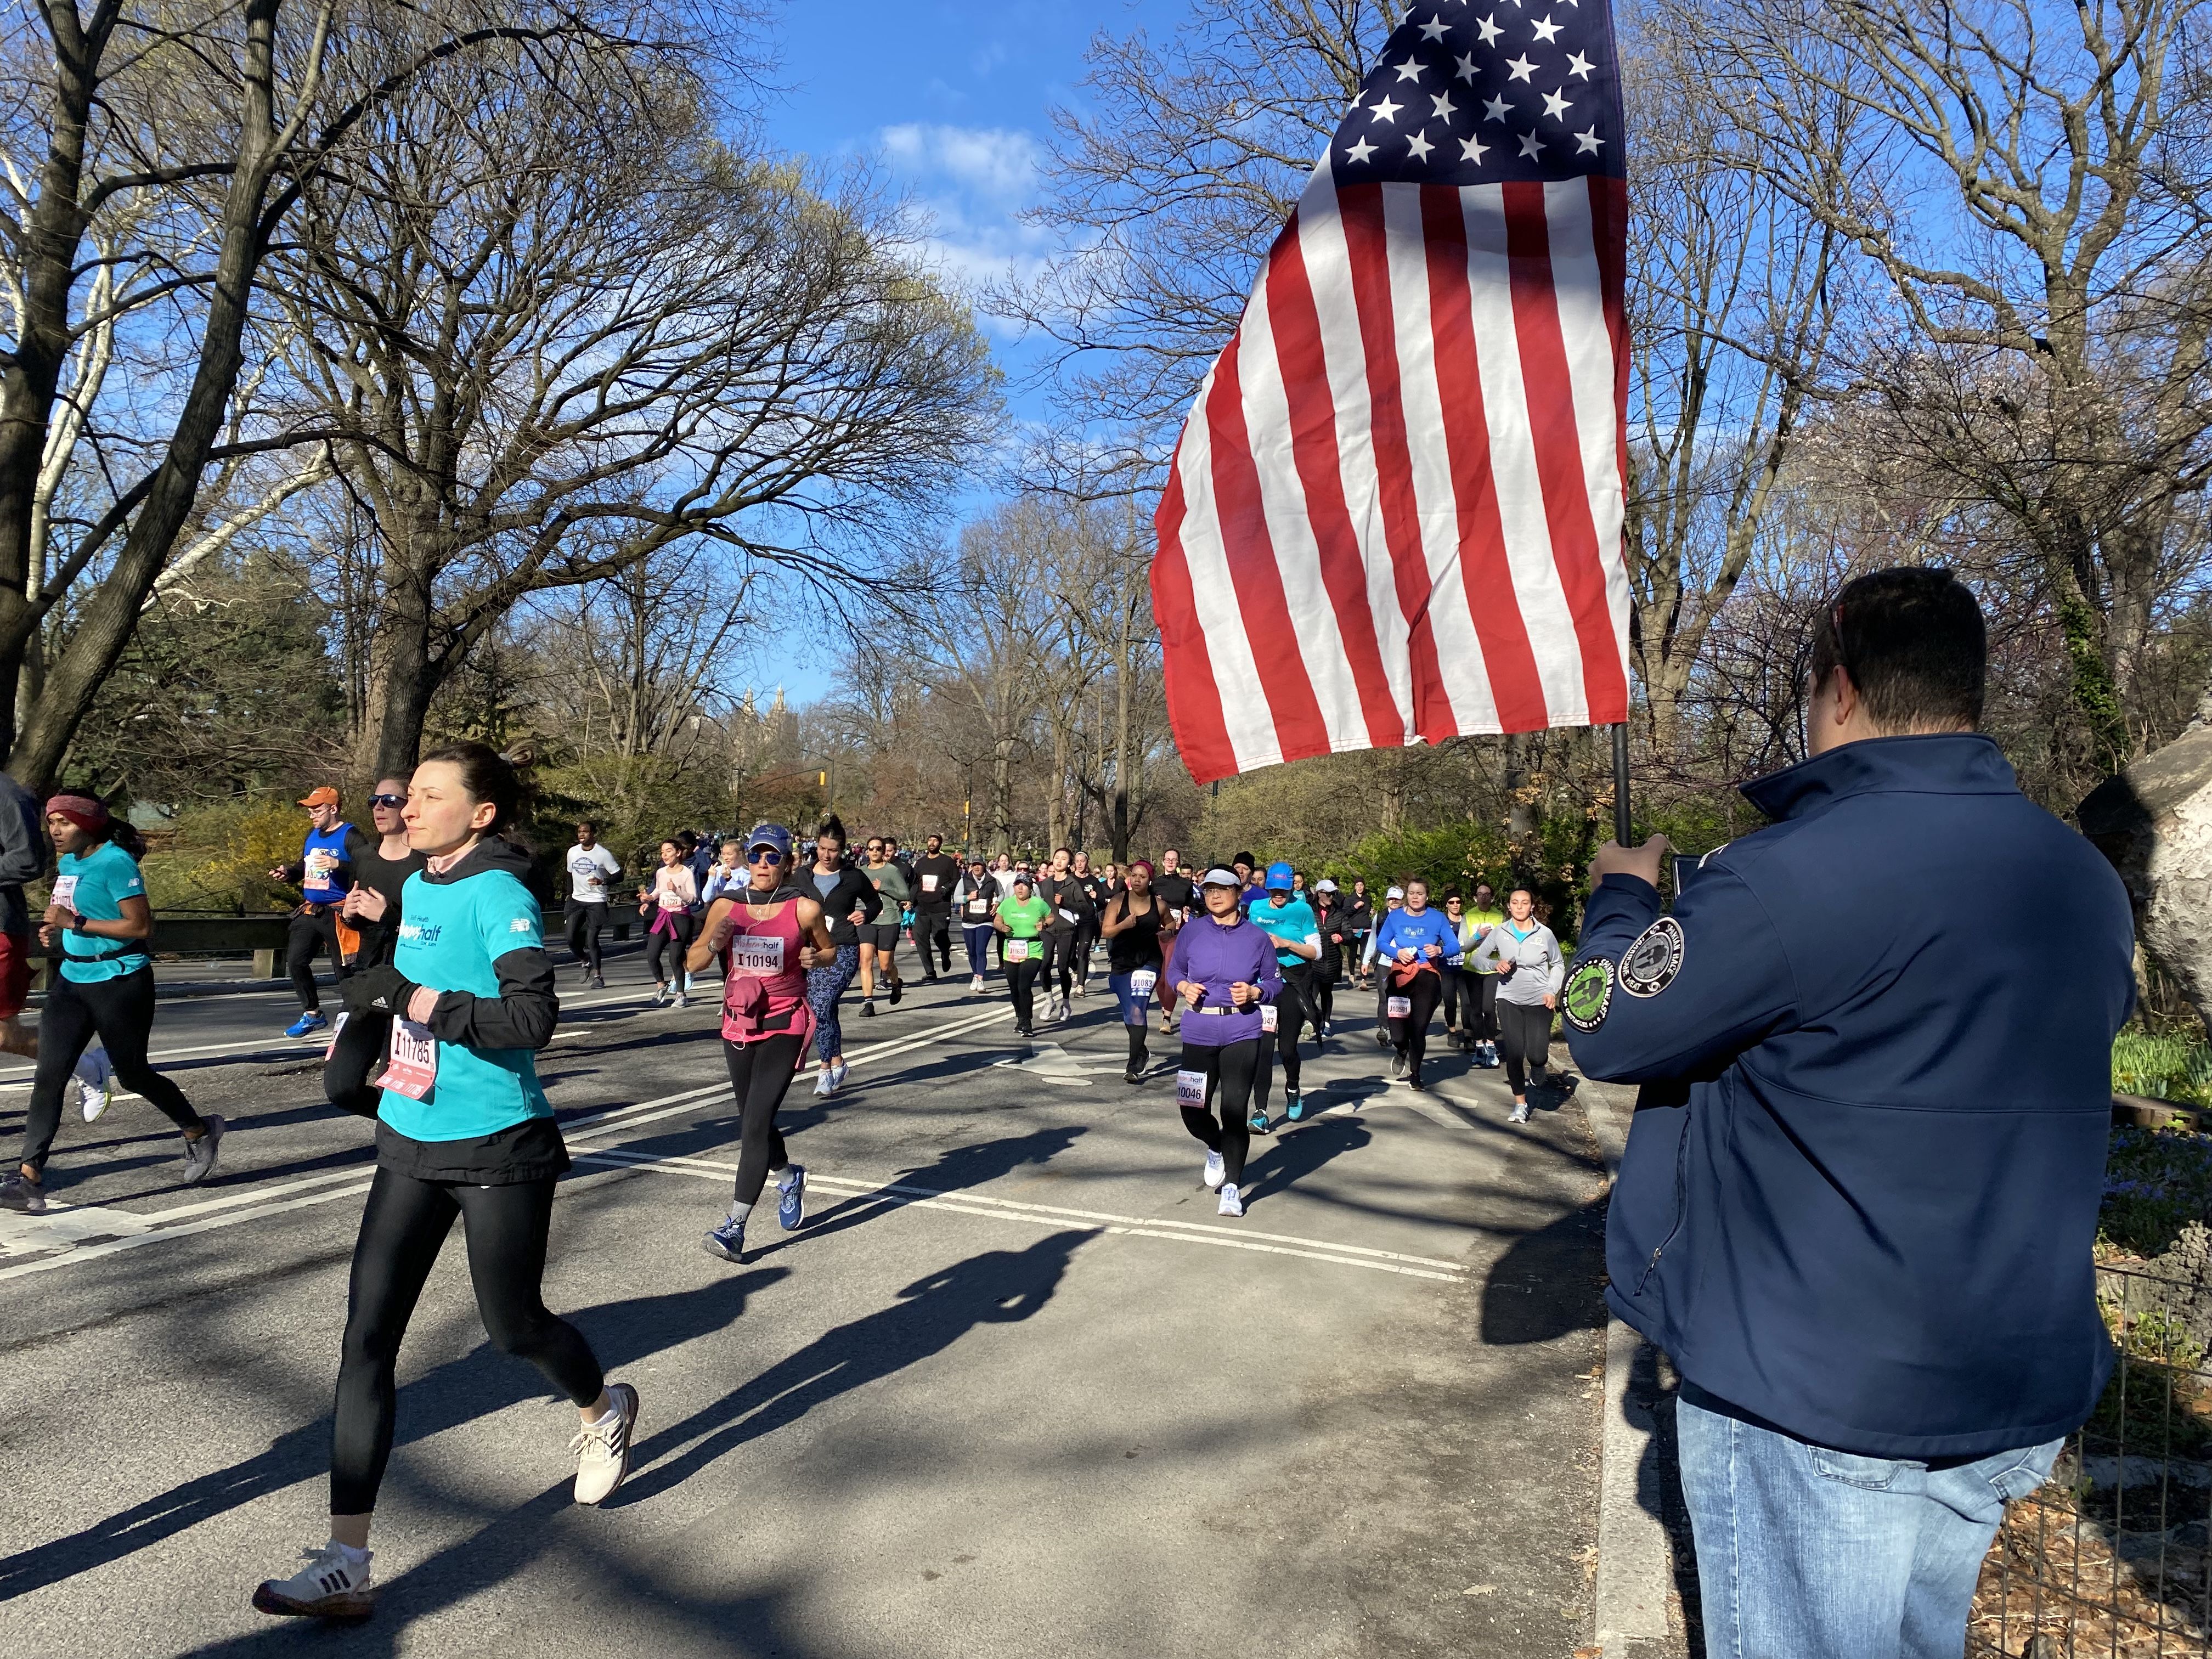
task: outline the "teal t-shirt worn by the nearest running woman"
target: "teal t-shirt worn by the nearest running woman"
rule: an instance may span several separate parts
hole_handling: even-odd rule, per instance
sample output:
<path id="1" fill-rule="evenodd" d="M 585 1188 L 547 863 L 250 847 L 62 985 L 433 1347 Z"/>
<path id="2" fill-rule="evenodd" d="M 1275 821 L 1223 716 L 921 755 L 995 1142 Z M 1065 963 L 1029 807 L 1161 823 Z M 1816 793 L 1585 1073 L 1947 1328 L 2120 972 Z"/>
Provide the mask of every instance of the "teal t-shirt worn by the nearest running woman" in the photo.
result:
<path id="1" fill-rule="evenodd" d="M 480 869 L 453 883 L 431 883 L 416 872 L 400 889 L 392 967 L 431 991 L 495 998 L 493 962 L 509 951 L 544 949 L 542 922 L 529 887 L 504 869 Z M 411 1141 L 465 1141 L 551 1117 L 553 1104 L 538 1084 L 529 1048 L 469 1048 L 440 1040 L 431 1091 L 409 1099 L 387 1088 L 376 1115 Z"/>

